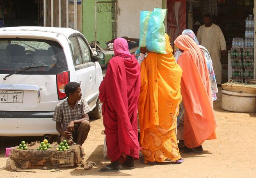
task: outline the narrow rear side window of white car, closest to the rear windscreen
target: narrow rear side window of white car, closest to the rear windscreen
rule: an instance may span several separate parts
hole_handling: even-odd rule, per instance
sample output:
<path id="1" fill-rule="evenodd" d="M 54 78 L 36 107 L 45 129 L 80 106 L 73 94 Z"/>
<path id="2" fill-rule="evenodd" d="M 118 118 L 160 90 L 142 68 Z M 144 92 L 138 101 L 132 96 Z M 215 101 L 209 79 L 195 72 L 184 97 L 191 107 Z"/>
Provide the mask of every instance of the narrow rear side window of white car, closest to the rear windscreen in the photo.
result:
<path id="1" fill-rule="evenodd" d="M 81 53 L 80 53 L 80 48 L 79 48 L 79 45 L 78 45 L 78 41 L 76 39 L 75 36 L 71 37 L 70 39 L 70 42 L 71 42 L 71 49 L 72 49 L 72 52 L 73 52 L 73 64 L 74 66 L 78 66 L 80 64 L 82 64 L 82 56 L 81 56 Z"/>

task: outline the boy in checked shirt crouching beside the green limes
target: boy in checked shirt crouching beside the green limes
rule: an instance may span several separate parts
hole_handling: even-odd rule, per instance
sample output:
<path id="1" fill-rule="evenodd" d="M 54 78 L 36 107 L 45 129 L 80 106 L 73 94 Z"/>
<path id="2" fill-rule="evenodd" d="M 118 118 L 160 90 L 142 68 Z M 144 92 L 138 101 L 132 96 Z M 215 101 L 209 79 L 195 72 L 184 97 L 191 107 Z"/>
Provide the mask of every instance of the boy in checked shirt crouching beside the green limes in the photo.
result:
<path id="1" fill-rule="evenodd" d="M 91 109 L 82 98 L 79 83 L 69 82 L 66 84 L 65 94 L 68 98 L 57 104 L 53 115 L 53 121 L 56 121 L 56 130 L 59 132 L 59 140 L 66 139 L 69 145 L 76 142 L 82 146 L 90 130 L 87 113 Z"/>

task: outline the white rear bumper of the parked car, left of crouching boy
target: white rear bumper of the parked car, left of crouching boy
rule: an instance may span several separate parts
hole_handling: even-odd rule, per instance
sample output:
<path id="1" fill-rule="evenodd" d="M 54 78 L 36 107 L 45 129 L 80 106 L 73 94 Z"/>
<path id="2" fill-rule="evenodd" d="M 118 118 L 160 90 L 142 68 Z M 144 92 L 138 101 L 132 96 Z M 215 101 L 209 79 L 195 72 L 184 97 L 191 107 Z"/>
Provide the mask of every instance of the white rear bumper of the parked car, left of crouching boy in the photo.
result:
<path id="1" fill-rule="evenodd" d="M 0 136 L 43 136 L 59 134 L 53 118 L 0 118 Z"/>

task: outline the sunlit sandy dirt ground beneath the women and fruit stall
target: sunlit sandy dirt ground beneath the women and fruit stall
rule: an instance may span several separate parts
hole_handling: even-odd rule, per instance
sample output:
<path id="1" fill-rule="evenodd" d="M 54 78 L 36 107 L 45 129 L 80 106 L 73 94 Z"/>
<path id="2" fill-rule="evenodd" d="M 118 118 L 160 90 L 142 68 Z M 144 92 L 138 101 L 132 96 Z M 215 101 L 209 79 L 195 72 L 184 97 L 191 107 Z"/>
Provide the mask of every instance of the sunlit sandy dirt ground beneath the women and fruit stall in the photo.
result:
<path id="1" fill-rule="evenodd" d="M 217 120 L 217 139 L 203 144 L 203 153 L 185 154 L 181 152 L 185 162 L 182 164 L 147 165 L 139 160 L 135 162 L 136 169 L 121 170 L 116 173 L 99 173 L 98 169 L 109 163 L 103 159 L 103 120 L 91 121 L 91 131 L 83 144 L 85 161 L 97 164 L 90 170 L 83 168 L 60 169 L 59 172 L 34 169 L 37 173 L 16 173 L 0 170 L 0 178 L 23 177 L 34 178 L 50 176 L 63 177 L 256 177 L 256 113 L 234 113 L 221 110 L 221 94 L 214 103 Z M 0 144 L 0 168 L 5 167 L 5 147 L 11 147 L 24 139 L 34 141 L 38 137 L 3 138 Z"/>

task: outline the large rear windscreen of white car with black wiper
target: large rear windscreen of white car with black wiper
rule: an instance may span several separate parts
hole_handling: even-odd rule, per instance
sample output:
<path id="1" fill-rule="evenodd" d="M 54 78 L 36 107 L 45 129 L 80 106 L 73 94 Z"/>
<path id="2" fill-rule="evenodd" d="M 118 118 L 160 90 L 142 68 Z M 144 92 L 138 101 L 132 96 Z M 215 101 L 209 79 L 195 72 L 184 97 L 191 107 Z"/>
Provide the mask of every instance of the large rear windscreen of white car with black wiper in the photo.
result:
<path id="1" fill-rule="evenodd" d="M 56 41 L 0 38 L 0 74 L 9 74 L 27 66 L 19 74 L 57 74 L 68 70 L 62 46 Z"/>

